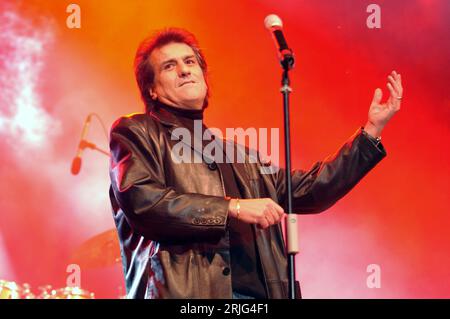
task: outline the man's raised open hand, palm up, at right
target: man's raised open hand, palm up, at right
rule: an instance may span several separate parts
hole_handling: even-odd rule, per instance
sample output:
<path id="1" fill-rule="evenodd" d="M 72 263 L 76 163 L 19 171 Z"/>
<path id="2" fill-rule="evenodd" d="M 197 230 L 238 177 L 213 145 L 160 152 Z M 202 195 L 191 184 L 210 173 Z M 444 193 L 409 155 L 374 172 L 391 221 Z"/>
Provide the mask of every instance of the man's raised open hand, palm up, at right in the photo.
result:
<path id="1" fill-rule="evenodd" d="M 370 105 L 369 118 L 364 130 L 373 137 L 381 136 L 384 126 L 400 110 L 401 99 L 403 98 L 401 75 L 392 71 L 388 76 L 387 88 L 390 96 L 386 103 L 381 103 L 383 92 L 380 88 L 377 88 Z"/>

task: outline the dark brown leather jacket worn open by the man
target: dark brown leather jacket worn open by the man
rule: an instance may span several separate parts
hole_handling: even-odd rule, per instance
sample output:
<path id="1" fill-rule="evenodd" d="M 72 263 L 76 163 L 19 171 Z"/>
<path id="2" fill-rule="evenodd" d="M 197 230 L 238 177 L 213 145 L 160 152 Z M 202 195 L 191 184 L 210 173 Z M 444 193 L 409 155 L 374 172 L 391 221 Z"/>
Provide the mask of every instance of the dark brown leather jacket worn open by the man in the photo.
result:
<path id="1" fill-rule="evenodd" d="M 231 298 L 228 200 L 221 172 L 206 163 L 176 164 L 178 119 L 164 109 L 118 119 L 111 129 L 110 199 L 128 298 Z M 319 213 L 349 192 L 384 156 L 362 129 L 308 171 L 292 174 L 293 207 Z M 284 206 L 285 171 L 261 174 L 234 163 L 244 198 Z M 253 227 L 268 298 L 288 298 L 280 225 Z"/>

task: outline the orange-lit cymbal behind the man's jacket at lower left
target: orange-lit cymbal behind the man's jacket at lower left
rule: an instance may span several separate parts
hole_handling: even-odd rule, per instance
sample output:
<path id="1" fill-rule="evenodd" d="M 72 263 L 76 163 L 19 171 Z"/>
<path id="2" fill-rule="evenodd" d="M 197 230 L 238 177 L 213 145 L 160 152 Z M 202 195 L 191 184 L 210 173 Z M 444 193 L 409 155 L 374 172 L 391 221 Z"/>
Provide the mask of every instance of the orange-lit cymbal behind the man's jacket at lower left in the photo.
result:
<path id="1" fill-rule="evenodd" d="M 83 242 L 71 255 L 71 263 L 81 268 L 103 268 L 120 263 L 116 229 L 104 231 Z"/>

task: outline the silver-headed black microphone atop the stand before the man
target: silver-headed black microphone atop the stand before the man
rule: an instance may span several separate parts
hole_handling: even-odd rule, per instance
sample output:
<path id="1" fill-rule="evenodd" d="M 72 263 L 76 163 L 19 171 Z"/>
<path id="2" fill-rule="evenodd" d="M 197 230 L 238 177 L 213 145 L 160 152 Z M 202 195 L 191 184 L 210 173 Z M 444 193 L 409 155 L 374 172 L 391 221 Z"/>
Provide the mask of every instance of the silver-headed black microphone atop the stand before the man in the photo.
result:
<path id="1" fill-rule="evenodd" d="M 264 19 L 264 25 L 267 30 L 272 33 L 275 45 L 279 51 L 280 63 L 285 70 L 290 70 L 294 67 L 294 53 L 289 48 L 286 38 L 283 34 L 283 22 L 275 14 L 269 14 Z"/>

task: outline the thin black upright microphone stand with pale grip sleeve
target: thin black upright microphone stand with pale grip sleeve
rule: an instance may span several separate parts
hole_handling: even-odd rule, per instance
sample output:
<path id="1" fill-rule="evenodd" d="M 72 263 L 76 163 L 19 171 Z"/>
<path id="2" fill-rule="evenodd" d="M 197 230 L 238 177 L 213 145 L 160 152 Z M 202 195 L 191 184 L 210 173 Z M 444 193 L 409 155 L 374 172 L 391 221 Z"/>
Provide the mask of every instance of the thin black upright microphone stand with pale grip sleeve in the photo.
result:
<path id="1" fill-rule="evenodd" d="M 287 203 L 287 221 L 286 221 L 286 238 L 287 238 L 287 254 L 288 254 L 288 279 L 289 279 L 289 299 L 296 299 L 295 289 L 295 255 L 299 252 L 298 236 L 297 236 L 297 215 L 292 211 L 292 178 L 291 178 L 291 136 L 290 136 L 290 120 L 289 120 L 289 94 L 292 92 L 289 80 L 289 70 L 294 67 L 294 56 L 285 54 L 281 61 L 283 74 L 281 80 L 281 94 L 283 95 L 284 110 L 284 149 L 285 149 L 285 166 L 286 166 L 286 203 Z M 301 296 L 299 296 L 301 297 Z"/>

